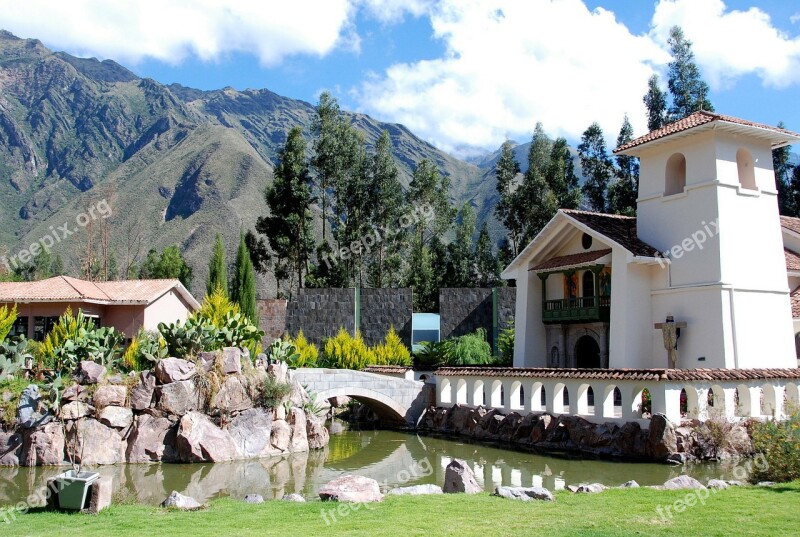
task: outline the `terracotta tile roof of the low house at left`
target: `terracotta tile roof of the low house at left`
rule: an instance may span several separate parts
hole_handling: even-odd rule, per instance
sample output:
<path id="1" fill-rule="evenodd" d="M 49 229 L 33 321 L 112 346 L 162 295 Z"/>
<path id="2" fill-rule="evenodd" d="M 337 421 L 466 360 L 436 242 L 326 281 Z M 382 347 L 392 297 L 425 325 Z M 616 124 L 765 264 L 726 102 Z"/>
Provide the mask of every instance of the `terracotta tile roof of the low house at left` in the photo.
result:
<path id="1" fill-rule="evenodd" d="M 195 308 L 197 301 L 179 280 L 122 280 L 90 282 L 56 276 L 34 282 L 0 283 L 0 302 L 98 302 L 149 304 L 177 287 Z"/>

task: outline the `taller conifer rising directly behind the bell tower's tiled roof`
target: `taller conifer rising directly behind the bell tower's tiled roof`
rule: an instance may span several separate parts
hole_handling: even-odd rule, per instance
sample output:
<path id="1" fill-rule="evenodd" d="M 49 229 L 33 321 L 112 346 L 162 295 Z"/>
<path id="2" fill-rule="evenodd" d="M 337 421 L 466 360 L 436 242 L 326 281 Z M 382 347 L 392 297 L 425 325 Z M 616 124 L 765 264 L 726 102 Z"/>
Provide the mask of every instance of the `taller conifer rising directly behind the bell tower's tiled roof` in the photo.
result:
<path id="1" fill-rule="evenodd" d="M 670 29 L 667 43 L 672 52 L 667 78 L 672 95 L 670 120 L 676 121 L 698 110 L 713 112 L 714 107 L 708 100 L 708 84 L 703 81 L 700 68 L 694 61 L 692 42 L 686 39 L 680 26 Z"/>

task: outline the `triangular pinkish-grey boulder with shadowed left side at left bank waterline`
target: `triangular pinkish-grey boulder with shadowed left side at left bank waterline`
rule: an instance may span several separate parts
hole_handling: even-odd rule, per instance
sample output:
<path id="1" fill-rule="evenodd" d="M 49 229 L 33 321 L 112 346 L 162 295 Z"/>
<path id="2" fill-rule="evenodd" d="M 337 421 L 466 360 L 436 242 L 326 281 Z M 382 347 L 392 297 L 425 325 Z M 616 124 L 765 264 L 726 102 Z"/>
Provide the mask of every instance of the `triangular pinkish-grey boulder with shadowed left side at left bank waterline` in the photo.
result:
<path id="1" fill-rule="evenodd" d="M 190 412 L 181 418 L 175 447 L 183 462 L 221 462 L 240 458 L 230 433 L 214 425 L 200 412 Z"/>

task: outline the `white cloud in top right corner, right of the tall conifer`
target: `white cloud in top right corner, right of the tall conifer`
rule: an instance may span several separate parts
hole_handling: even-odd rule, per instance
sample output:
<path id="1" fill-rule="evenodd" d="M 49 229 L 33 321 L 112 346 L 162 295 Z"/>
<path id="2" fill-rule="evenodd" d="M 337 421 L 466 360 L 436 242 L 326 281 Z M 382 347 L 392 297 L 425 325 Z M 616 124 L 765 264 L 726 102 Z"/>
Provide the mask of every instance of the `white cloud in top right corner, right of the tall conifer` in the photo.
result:
<path id="1" fill-rule="evenodd" d="M 765 85 L 800 83 L 800 36 L 776 28 L 757 7 L 730 10 L 722 0 L 661 0 L 653 15 L 652 36 L 665 43 L 679 25 L 712 89 L 754 74 Z"/>

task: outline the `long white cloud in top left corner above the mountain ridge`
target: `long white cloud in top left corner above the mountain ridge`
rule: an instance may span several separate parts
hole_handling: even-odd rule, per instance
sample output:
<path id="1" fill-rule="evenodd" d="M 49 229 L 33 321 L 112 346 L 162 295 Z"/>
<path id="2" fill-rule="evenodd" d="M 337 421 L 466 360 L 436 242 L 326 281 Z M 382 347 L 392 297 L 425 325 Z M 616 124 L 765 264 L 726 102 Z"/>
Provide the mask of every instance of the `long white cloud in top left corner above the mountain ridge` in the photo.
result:
<path id="1" fill-rule="evenodd" d="M 0 27 L 129 63 L 246 52 L 270 66 L 293 54 L 357 48 L 353 9 L 349 0 L 0 0 Z"/>

